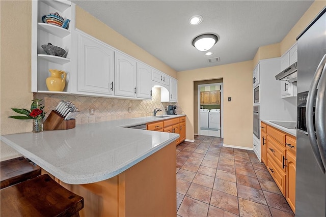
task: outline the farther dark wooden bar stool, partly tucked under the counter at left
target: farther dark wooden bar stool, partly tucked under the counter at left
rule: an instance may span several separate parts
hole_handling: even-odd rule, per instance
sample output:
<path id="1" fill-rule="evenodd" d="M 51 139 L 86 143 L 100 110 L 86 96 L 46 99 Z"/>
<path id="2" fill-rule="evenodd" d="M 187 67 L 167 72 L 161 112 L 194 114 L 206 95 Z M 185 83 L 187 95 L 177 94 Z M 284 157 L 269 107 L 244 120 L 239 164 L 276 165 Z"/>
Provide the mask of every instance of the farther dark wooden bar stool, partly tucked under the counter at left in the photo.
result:
<path id="1" fill-rule="evenodd" d="M 1 189 L 41 175 L 41 168 L 33 166 L 24 157 L 1 163 Z"/>

